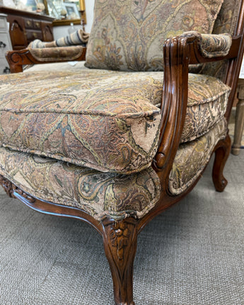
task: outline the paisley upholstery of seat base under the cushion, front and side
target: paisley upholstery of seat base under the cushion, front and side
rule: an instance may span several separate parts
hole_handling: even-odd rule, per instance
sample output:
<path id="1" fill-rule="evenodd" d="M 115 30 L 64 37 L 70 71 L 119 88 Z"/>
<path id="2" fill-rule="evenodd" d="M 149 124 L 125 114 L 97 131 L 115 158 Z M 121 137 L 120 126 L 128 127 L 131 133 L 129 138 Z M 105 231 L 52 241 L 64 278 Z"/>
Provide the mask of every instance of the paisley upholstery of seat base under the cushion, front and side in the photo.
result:
<path id="1" fill-rule="evenodd" d="M 226 135 L 226 121 L 206 135 L 180 145 L 170 174 L 170 190 L 179 194 L 199 177 L 214 145 Z M 0 148 L 0 174 L 39 199 L 74 206 L 99 221 L 141 218 L 156 205 L 160 182 L 149 167 L 136 174 L 103 173 L 58 160 Z"/>

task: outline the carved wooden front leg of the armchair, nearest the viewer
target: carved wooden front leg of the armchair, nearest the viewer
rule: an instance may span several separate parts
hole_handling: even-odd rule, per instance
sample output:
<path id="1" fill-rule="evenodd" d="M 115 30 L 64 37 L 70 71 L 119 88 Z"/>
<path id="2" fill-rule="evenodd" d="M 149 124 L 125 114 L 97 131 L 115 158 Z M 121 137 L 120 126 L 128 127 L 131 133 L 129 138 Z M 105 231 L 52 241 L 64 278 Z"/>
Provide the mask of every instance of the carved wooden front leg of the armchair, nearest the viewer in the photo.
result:
<path id="1" fill-rule="evenodd" d="M 116 305 L 134 305 L 133 265 L 136 255 L 136 219 L 103 221 L 103 243 L 110 264 Z"/>

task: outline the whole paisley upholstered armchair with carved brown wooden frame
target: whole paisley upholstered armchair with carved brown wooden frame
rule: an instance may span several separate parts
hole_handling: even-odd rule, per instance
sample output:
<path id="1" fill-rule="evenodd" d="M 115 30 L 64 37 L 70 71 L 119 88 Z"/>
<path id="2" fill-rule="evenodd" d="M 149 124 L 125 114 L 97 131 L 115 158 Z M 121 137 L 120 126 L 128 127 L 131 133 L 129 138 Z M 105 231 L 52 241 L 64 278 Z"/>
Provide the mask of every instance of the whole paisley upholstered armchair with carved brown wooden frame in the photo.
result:
<path id="1" fill-rule="evenodd" d="M 96 228 L 117 305 L 134 304 L 138 234 L 192 190 L 213 153 L 214 186 L 226 187 L 243 9 L 240 0 L 97 0 L 87 48 L 8 52 L 11 72 L 86 60 L 80 71 L 1 77 L 1 184 L 37 211 Z"/>

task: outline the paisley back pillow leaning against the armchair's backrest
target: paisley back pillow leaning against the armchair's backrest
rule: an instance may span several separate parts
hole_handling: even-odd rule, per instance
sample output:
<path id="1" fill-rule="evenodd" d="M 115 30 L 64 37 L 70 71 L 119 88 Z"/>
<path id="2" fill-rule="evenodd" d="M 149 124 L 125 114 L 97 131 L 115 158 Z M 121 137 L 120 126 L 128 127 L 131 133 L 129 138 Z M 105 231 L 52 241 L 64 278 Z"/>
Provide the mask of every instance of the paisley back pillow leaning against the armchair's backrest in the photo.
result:
<path id="1" fill-rule="evenodd" d="M 211 33 L 223 0 L 96 0 L 86 67 L 163 70 L 163 41 Z"/>

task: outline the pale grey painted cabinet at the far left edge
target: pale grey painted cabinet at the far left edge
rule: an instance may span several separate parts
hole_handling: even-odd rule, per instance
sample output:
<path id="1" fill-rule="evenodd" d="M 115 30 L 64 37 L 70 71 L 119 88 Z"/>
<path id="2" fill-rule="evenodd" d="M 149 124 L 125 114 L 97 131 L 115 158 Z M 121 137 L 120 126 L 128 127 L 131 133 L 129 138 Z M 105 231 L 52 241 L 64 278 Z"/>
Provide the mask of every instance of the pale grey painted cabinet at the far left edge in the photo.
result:
<path id="1" fill-rule="evenodd" d="M 9 72 L 5 52 L 12 49 L 6 17 L 7 16 L 4 13 L 0 13 L 0 74 Z"/>

